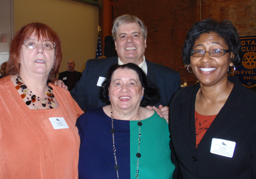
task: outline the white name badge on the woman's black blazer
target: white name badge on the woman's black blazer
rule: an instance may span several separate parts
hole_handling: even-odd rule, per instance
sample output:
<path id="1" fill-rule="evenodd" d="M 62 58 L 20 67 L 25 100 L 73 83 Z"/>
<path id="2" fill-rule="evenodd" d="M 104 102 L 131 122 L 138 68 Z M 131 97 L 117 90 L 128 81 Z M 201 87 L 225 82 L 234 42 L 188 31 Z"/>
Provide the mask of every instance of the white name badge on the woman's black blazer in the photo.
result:
<path id="1" fill-rule="evenodd" d="M 232 158 L 235 147 L 236 147 L 236 142 L 213 138 L 211 140 L 210 152 L 212 154 L 217 154 L 220 156 Z"/>

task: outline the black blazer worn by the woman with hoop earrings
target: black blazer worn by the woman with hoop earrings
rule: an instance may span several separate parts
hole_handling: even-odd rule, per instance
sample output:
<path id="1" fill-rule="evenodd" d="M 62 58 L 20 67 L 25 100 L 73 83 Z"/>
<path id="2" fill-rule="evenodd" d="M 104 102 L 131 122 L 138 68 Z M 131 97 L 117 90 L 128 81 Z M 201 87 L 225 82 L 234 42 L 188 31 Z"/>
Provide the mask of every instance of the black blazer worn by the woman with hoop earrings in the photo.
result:
<path id="1" fill-rule="evenodd" d="M 195 100 L 200 84 L 181 89 L 170 103 L 172 161 L 183 178 L 256 178 L 256 93 L 236 77 L 229 81 L 234 87 L 197 148 Z M 211 154 L 212 138 L 236 142 L 233 157 Z"/>

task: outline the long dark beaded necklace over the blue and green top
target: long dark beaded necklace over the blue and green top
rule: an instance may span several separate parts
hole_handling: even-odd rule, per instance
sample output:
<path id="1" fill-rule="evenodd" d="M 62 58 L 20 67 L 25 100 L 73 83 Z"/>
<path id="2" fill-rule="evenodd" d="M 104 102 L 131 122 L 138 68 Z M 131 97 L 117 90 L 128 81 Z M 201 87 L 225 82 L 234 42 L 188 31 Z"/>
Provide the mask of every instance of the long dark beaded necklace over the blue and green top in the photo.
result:
<path id="1" fill-rule="evenodd" d="M 115 135 L 114 135 L 114 133 L 116 132 L 116 130 L 114 129 L 113 118 L 114 118 L 114 115 L 113 115 L 113 113 L 111 112 L 112 129 L 110 130 L 110 132 L 112 133 L 112 139 L 113 139 L 113 151 L 114 151 L 114 158 L 115 158 L 115 166 L 114 166 L 114 169 L 116 170 L 117 179 L 119 179 L 119 175 L 118 175 L 119 165 L 117 165 L 116 146 L 115 146 Z M 139 177 L 139 159 L 140 159 L 140 157 L 141 157 L 141 154 L 140 154 L 140 141 L 141 141 L 141 138 L 140 138 L 140 136 L 141 136 L 140 127 L 141 127 L 141 125 L 142 125 L 142 122 L 140 121 L 140 112 L 139 112 L 139 122 L 138 122 L 137 124 L 138 124 L 138 126 L 139 126 L 139 138 L 138 138 L 139 144 L 138 144 L 138 152 L 137 152 L 137 154 L 136 154 L 136 157 L 137 157 L 138 159 L 137 159 L 137 170 L 136 170 L 136 175 L 135 175 L 135 177 L 138 179 L 138 177 Z"/>

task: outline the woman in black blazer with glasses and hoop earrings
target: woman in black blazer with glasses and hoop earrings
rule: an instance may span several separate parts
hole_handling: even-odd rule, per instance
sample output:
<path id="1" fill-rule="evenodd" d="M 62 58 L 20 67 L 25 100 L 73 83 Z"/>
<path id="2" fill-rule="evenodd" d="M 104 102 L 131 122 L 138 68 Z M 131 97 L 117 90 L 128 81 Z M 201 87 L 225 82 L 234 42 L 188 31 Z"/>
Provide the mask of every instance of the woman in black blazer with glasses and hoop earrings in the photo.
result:
<path id="1" fill-rule="evenodd" d="M 229 20 L 196 22 L 182 58 L 199 83 L 178 91 L 170 103 L 178 177 L 256 178 L 256 93 L 227 76 L 243 59 L 236 28 Z"/>

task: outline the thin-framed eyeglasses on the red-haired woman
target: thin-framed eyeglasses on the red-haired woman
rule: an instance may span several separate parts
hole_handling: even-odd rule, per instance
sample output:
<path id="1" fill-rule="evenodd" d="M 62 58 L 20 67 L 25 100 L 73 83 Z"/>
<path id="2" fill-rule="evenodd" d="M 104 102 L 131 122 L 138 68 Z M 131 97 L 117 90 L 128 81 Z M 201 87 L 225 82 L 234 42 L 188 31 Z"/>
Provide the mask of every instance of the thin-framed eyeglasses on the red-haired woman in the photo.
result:
<path id="1" fill-rule="evenodd" d="M 51 50 L 55 48 L 56 44 L 50 40 L 44 40 L 42 42 L 38 42 L 36 39 L 26 39 L 24 41 L 24 45 L 30 49 L 36 48 L 38 44 L 41 44 L 47 50 Z"/>

